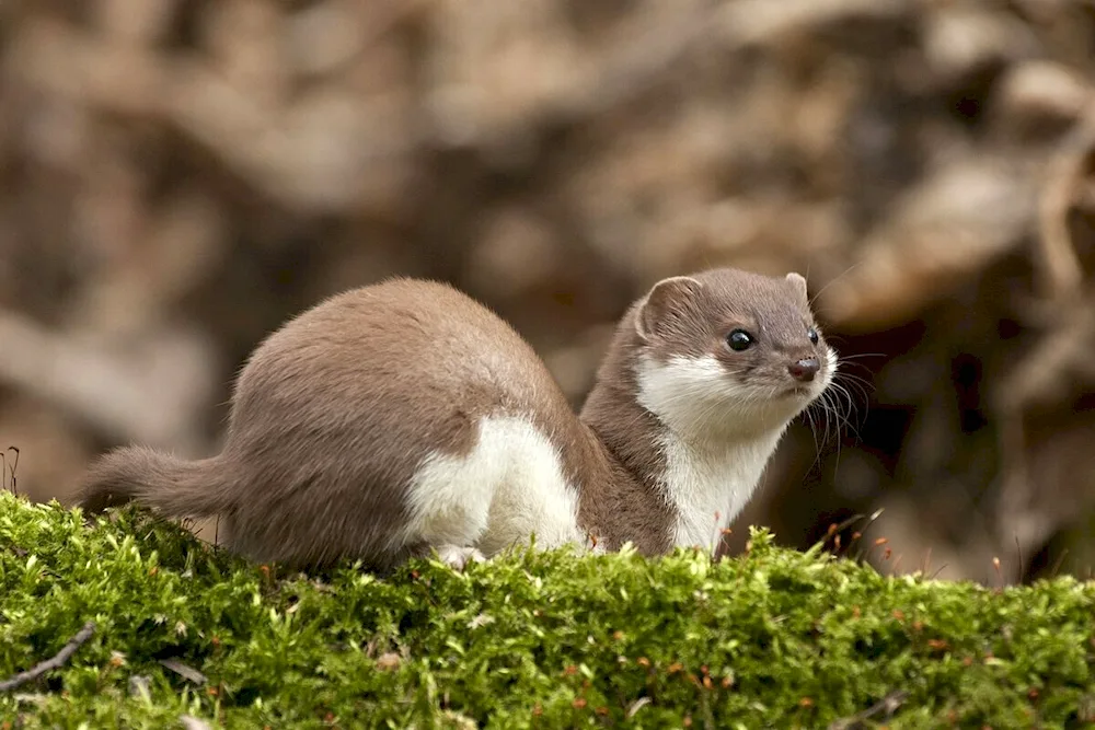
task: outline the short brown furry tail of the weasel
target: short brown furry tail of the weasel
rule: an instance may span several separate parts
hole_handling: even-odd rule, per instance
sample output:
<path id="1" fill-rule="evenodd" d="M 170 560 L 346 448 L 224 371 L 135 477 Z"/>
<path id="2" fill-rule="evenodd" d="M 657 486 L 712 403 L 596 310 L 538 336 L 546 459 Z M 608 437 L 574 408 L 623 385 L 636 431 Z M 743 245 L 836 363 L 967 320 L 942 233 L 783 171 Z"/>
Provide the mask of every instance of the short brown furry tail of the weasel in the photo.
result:
<path id="1" fill-rule="evenodd" d="M 148 447 L 107 452 L 88 470 L 78 505 L 89 513 L 137 501 L 170 517 L 210 517 L 232 505 L 220 456 L 176 459 Z"/>

